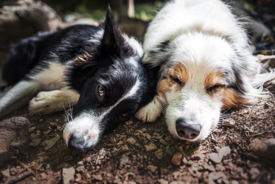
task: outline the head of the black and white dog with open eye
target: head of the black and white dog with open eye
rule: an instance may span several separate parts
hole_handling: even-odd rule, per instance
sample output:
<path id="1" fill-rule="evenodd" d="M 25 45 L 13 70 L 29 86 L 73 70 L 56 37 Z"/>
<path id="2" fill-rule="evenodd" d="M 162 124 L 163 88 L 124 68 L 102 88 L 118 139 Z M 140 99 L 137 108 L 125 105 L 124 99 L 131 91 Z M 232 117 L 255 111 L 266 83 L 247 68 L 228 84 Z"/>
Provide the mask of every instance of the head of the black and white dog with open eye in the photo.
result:
<path id="1" fill-rule="evenodd" d="M 97 47 L 75 62 L 76 72 L 82 73 L 85 81 L 80 85 L 73 119 L 63 133 L 72 151 L 86 153 L 144 105 L 148 79 L 141 65 L 142 55 L 140 43 L 119 30 L 108 7 L 104 34 Z"/>

